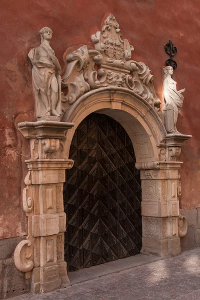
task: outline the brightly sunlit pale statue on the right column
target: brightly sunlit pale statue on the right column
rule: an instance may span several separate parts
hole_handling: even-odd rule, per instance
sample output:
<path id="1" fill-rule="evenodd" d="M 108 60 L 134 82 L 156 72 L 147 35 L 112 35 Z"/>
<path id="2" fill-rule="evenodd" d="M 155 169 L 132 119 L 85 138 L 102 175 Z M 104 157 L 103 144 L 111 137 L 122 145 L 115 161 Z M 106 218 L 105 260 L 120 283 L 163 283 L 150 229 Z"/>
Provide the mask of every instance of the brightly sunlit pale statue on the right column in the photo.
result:
<path id="1" fill-rule="evenodd" d="M 167 133 L 179 133 L 176 129 L 178 111 L 182 107 L 185 88 L 176 90 L 176 82 L 171 78 L 172 66 L 163 68 L 163 96 L 165 106 L 163 108 L 164 123 Z"/>

